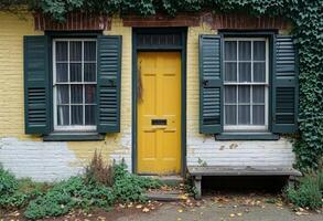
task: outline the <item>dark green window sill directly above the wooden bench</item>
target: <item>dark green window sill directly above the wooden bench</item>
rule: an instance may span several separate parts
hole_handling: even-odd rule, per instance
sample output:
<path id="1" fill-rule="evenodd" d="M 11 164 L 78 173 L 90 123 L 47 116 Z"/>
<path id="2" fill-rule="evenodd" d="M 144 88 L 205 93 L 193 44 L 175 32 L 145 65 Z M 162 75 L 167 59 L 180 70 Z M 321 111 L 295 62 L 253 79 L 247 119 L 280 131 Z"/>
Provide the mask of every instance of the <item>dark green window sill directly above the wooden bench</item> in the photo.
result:
<path id="1" fill-rule="evenodd" d="M 223 133 L 215 140 L 278 140 L 279 135 L 271 133 Z"/>

